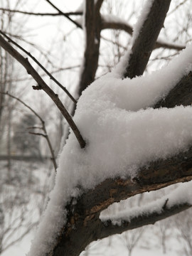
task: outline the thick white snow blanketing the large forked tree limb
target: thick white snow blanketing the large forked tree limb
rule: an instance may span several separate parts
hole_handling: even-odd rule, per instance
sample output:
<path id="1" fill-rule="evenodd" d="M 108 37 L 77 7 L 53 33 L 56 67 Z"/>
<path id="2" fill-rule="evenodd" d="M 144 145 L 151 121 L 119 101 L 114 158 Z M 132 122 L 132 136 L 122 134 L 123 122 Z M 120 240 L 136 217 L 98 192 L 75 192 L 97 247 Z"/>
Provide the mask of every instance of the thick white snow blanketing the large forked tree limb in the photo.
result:
<path id="1" fill-rule="evenodd" d="M 65 225 L 66 204 L 84 189 L 106 178 L 133 178 L 150 161 L 188 149 L 192 143 L 192 107 L 150 107 L 191 70 L 191 48 L 183 50 L 166 68 L 143 78 L 121 80 L 120 65 L 82 93 L 74 121 L 87 146 L 80 149 L 71 132 L 28 256 L 46 255 Z"/>

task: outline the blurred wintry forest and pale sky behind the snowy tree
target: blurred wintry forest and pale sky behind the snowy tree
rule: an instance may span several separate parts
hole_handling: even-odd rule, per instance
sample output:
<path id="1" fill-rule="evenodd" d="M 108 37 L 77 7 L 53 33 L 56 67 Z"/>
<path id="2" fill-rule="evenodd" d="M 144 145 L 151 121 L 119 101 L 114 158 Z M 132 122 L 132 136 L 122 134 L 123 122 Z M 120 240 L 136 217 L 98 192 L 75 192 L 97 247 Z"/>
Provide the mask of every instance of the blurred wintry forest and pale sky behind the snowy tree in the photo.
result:
<path id="1" fill-rule="evenodd" d="M 0 0 L 0 29 L 31 53 L 78 99 L 80 87 L 105 75 L 130 46 L 132 27 L 144 1 L 105 0 L 100 13 L 105 28 L 95 78 L 83 77 L 85 34 L 78 0 Z M 58 8 L 58 9 L 57 9 Z M 151 73 L 191 43 L 192 1 L 173 0 L 145 73 Z M 91 48 L 90 48 L 91 50 Z M 73 114 L 74 104 L 53 79 L 33 67 Z M 92 67 L 91 67 L 92 68 Z M 93 67 L 94 68 L 94 67 Z M 92 74 L 90 75 L 92 77 Z M 57 157 L 68 137 L 68 123 L 48 96 L 33 90 L 36 82 L 0 48 L 0 255 L 25 255 L 35 234 L 48 193 L 53 188 Z M 107 211 L 140 206 L 178 185 L 142 193 L 114 203 Z M 92 242 L 82 255 L 192 255 L 191 210 L 122 235 Z"/>

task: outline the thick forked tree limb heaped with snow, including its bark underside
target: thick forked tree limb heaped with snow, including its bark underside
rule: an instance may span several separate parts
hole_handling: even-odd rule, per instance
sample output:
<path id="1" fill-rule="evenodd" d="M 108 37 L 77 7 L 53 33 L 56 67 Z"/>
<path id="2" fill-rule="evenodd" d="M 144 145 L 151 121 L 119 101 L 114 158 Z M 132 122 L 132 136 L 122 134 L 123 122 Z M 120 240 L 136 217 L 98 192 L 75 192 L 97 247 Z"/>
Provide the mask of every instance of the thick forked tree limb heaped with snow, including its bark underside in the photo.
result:
<path id="1" fill-rule="evenodd" d="M 60 154 L 55 188 L 31 255 L 49 250 L 62 255 L 66 247 L 69 255 L 78 255 L 97 239 L 99 215 L 110 204 L 191 181 L 191 106 L 147 108 L 190 70 L 188 46 L 169 67 L 149 77 L 121 80 L 114 70 L 82 93 L 74 119 L 87 147 L 80 150 L 70 134 Z M 36 247 L 41 248 L 39 254 Z"/>

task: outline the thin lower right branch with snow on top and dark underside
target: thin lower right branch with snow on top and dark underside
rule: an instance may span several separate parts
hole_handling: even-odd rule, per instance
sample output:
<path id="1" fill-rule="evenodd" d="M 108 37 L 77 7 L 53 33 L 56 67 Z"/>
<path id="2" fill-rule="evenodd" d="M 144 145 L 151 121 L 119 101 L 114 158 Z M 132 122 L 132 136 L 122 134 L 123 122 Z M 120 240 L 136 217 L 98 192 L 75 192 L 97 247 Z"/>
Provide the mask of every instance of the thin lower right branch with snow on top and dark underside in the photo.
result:
<path id="1" fill-rule="evenodd" d="M 183 191 L 187 192 L 183 193 Z M 146 206 L 120 211 L 112 216 L 102 214 L 98 239 L 154 224 L 156 221 L 190 208 L 192 206 L 191 192 L 191 182 L 183 183 L 169 195 L 148 203 Z"/>

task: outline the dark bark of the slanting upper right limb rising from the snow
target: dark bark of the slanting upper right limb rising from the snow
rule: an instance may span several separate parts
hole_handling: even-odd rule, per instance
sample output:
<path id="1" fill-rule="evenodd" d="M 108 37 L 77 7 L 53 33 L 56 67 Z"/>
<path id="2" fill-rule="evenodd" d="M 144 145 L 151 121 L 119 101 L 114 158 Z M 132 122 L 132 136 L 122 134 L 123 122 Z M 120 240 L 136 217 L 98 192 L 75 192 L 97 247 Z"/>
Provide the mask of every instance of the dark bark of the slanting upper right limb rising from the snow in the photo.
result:
<path id="1" fill-rule="evenodd" d="M 151 52 L 154 50 L 156 39 L 164 26 L 164 19 L 169 10 L 170 2 L 171 0 L 154 0 L 139 36 L 132 46 L 132 53 L 129 56 L 129 62 L 127 61 L 124 78 L 134 78 L 144 73 Z"/>

